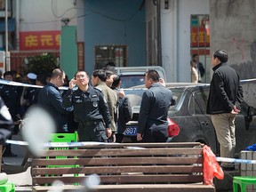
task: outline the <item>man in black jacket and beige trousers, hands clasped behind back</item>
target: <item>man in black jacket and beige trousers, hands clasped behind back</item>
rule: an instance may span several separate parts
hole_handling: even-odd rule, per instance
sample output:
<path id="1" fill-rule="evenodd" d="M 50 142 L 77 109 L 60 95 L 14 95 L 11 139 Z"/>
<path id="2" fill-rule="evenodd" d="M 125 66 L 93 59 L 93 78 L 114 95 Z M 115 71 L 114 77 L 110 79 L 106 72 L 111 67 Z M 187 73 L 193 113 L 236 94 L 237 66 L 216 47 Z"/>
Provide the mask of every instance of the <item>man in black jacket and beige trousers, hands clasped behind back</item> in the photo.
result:
<path id="1" fill-rule="evenodd" d="M 237 105 L 243 100 L 243 89 L 238 74 L 228 66 L 228 54 L 217 50 L 212 54 L 214 71 L 207 103 L 217 139 L 220 142 L 220 156 L 233 158 L 236 147 L 235 118 L 240 112 Z M 234 164 L 221 163 L 224 170 L 233 170 Z"/>

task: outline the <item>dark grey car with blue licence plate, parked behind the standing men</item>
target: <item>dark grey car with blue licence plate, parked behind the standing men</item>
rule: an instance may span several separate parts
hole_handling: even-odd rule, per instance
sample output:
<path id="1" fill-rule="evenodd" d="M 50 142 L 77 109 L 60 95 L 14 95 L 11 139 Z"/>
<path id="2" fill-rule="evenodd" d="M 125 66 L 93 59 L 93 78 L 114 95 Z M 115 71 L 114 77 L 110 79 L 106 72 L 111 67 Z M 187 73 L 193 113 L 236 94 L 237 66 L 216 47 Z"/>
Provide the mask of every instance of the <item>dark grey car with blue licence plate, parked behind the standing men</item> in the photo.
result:
<path id="1" fill-rule="evenodd" d="M 244 100 L 249 101 L 250 105 L 256 107 L 255 93 L 256 81 L 242 82 L 244 88 Z M 210 90 L 210 84 L 192 84 L 192 83 L 174 83 L 166 84 L 172 90 L 176 104 L 169 108 L 168 117 L 174 124 L 180 127 L 180 133 L 172 139 L 172 142 L 194 142 L 199 141 L 209 145 L 212 151 L 219 155 L 219 144 L 216 139 L 216 133 L 212 124 L 211 116 L 206 115 L 206 105 Z M 135 135 L 138 126 L 140 112 L 140 102 L 144 85 L 135 86 L 132 89 L 124 89 L 125 94 L 132 104 L 132 121 L 127 123 L 124 132 L 126 137 L 131 137 L 136 141 Z M 250 96 L 247 94 L 251 92 Z M 254 103 L 252 103 L 254 101 Z M 254 105 L 253 105 L 254 104 Z M 252 117 L 251 122 L 246 122 L 244 113 L 236 116 L 236 153 L 256 142 L 256 119 Z M 245 128 L 245 122 L 249 126 Z"/>

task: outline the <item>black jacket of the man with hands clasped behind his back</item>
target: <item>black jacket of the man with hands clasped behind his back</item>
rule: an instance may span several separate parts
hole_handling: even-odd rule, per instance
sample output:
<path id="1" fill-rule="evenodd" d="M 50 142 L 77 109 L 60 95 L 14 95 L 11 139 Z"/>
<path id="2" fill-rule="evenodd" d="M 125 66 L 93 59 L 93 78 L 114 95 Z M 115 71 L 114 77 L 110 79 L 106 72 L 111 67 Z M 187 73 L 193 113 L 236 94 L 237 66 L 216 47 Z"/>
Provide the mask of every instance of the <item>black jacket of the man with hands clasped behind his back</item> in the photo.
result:
<path id="1" fill-rule="evenodd" d="M 230 113 L 236 101 L 243 100 L 243 89 L 239 75 L 228 63 L 220 63 L 212 68 L 214 73 L 207 101 L 208 114 Z"/>

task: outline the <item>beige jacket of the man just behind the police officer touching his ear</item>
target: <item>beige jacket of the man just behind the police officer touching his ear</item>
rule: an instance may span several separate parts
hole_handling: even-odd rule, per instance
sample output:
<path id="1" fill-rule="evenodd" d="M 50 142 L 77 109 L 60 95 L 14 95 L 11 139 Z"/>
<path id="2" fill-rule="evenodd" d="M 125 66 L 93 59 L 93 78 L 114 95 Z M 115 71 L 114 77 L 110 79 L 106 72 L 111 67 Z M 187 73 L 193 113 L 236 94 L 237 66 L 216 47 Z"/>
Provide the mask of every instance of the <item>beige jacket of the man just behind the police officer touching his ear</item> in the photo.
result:
<path id="1" fill-rule="evenodd" d="M 116 132 L 116 123 L 117 123 L 117 93 L 113 91 L 105 82 L 100 82 L 100 84 L 96 87 L 100 89 L 103 93 L 105 100 L 108 102 L 109 113 L 111 116 L 111 130 L 112 132 Z"/>

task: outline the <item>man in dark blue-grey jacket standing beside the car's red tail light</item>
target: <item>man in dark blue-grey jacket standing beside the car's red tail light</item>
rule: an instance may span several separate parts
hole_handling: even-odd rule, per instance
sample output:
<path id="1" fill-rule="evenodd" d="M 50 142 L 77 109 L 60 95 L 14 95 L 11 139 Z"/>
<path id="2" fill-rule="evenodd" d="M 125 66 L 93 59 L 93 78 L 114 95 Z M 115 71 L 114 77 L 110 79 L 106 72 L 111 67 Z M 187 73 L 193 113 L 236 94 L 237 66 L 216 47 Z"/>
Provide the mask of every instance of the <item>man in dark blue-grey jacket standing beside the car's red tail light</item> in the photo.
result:
<path id="1" fill-rule="evenodd" d="M 159 82 L 156 70 L 148 70 L 142 95 L 137 130 L 137 140 L 165 142 L 168 139 L 168 109 L 172 105 L 172 91 Z"/>

